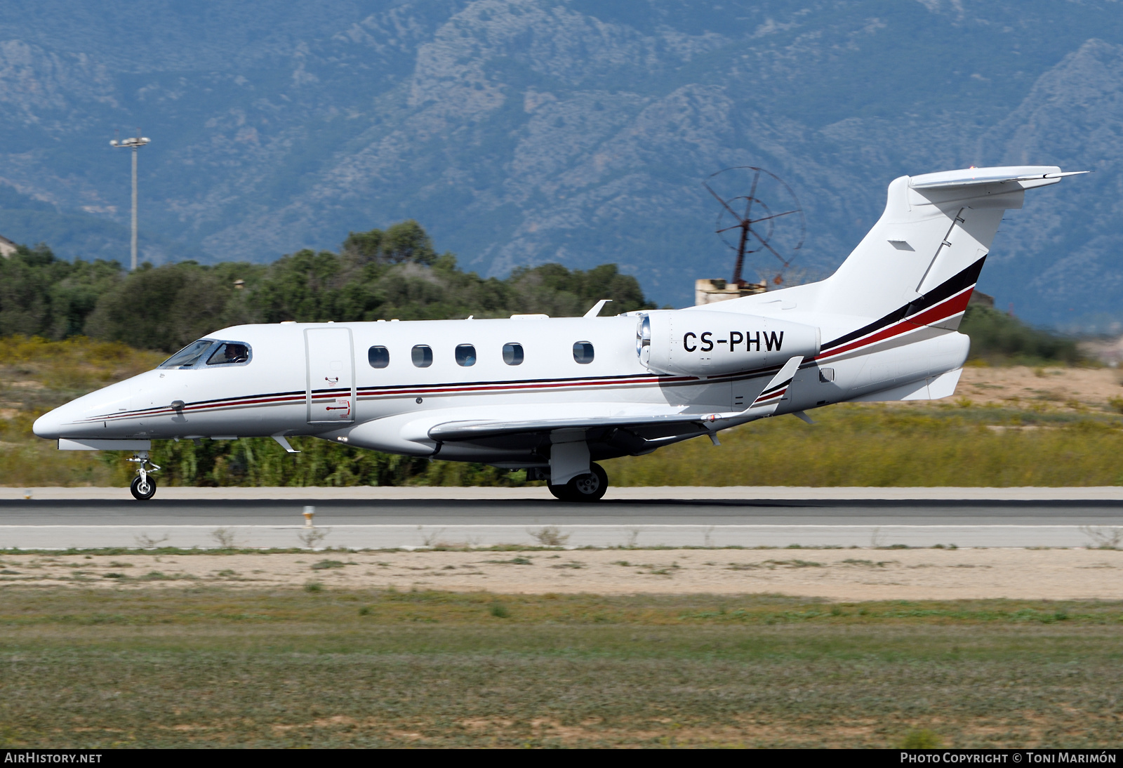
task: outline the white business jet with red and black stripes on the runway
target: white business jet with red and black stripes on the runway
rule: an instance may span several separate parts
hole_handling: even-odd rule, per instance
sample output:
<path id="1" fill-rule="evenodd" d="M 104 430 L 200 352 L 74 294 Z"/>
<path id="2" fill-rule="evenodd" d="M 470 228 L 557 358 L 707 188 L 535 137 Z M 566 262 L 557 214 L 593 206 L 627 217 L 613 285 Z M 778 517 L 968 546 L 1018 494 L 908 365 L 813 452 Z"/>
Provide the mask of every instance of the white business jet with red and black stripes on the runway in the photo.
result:
<path id="1" fill-rule="evenodd" d="M 947 171 L 889 184 L 882 218 L 824 281 L 684 310 L 235 326 L 155 371 L 35 422 L 69 450 L 130 450 L 156 490 L 152 440 L 314 436 L 408 456 L 524 468 L 595 501 L 596 460 L 748 421 L 955 392 L 957 332 L 1006 209 L 1053 166 Z M 752 481 L 746 467 L 745 482 Z"/>

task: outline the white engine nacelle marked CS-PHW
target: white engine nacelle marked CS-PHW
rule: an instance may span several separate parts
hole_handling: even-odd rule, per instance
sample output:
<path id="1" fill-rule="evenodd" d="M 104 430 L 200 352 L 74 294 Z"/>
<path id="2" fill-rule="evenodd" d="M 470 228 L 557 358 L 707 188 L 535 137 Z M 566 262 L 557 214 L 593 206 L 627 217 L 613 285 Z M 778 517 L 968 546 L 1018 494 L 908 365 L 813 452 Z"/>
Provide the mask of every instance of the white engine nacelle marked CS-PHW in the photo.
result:
<path id="1" fill-rule="evenodd" d="M 655 312 L 636 328 L 636 353 L 660 374 L 716 376 L 819 354 L 819 329 L 733 312 Z"/>

